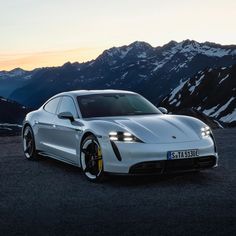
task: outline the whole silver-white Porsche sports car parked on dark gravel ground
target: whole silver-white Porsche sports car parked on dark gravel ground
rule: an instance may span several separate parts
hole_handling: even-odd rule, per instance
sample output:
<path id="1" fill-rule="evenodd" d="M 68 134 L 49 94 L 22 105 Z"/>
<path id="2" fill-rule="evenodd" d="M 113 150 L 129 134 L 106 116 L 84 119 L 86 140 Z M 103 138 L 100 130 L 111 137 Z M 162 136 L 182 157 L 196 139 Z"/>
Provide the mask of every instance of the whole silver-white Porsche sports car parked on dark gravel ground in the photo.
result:
<path id="1" fill-rule="evenodd" d="M 216 167 L 210 128 L 168 115 L 142 96 L 120 90 L 60 93 L 27 114 L 27 159 L 46 155 L 82 168 L 91 181 L 105 173 L 161 174 Z"/>

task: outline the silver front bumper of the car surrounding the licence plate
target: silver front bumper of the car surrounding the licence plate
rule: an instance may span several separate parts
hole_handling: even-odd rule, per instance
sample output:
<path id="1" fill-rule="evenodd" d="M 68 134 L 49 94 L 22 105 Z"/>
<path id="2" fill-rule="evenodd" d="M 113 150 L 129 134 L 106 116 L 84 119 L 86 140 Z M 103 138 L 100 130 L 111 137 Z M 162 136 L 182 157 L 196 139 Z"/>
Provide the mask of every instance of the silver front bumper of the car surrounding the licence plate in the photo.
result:
<path id="1" fill-rule="evenodd" d="M 218 154 L 215 152 L 215 145 L 210 137 L 207 139 L 201 139 L 191 142 L 162 144 L 116 142 L 115 145 L 119 150 L 121 160 L 117 158 L 117 155 L 115 154 L 114 148 L 112 147 L 110 141 L 107 140 L 101 142 L 104 159 L 104 171 L 106 172 L 117 174 L 131 174 L 135 169 L 137 170 L 138 166 L 140 167 L 143 164 L 146 164 L 147 166 L 147 163 L 150 164 L 148 164 L 148 166 L 152 166 L 152 164 L 154 163 L 157 167 L 156 172 L 159 171 L 160 173 L 167 172 L 167 170 L 170 169 L 173 169 L 173 171 L 174 169 L 179 171 L 203 169 L 203 157 L 205 158 L 206 162 L 206 157 L 213 158 L 210 158 L 213 161 L 209 165 L 206 165 L 204 168 L 215 167 L 218 163 Z M 189 149 L 198 149 L 199 157 L 167 161 L 168 151 Z"/>

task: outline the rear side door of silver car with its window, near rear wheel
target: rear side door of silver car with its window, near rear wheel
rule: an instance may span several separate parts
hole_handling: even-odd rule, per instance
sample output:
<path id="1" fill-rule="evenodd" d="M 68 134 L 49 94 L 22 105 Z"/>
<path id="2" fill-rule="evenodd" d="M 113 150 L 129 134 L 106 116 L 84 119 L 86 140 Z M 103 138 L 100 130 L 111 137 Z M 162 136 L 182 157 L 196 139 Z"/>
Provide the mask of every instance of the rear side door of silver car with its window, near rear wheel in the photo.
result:
<path id="1" fill-rule="evenodd" d="M 35 124 L 38 149 L 40 151 L 53 154 L 54 145 L 54 120 L 61 97 L 56 97 L 48 101 L 40 112 Z"/>

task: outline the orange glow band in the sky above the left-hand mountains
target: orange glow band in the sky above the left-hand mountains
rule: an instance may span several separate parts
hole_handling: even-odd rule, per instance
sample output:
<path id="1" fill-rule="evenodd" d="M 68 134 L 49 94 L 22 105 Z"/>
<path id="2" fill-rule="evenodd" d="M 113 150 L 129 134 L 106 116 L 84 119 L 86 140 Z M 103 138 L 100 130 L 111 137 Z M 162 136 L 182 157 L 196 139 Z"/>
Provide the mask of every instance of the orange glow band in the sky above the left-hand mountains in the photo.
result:
<path id="1" fill-rule="evenodd" d="M 39 67 L 61 66 L 70 62 L 86 62 L 101 54 L 100 48 L 78 48 L 62 51 L 0 54 L 0 71 L 22 68 L 32 70 Z"/>

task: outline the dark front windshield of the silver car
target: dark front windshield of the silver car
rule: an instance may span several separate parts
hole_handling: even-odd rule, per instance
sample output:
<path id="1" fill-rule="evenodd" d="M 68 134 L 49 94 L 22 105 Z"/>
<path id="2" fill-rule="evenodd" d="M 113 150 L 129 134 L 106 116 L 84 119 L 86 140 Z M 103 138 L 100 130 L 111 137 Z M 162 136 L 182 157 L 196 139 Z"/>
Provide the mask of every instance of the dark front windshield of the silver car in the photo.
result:
<path id="1" fill-rule="evenodd" d="M 162 114 L 138 94 L 93 94 L 77 100 L 83 118 Z"/>

